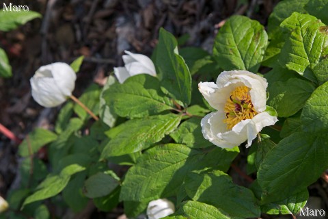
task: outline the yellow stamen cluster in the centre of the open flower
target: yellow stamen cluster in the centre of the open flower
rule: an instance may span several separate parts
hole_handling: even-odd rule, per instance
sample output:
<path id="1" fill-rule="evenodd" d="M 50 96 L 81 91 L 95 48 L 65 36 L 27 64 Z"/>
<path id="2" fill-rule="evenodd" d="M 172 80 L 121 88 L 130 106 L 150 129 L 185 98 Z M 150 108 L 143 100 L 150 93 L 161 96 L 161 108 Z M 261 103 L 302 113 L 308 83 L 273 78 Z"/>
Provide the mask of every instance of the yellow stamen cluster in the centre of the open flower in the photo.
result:
<path id="1" fill-rule="evenodd" d="M 224 105 L 224 112 L 226 112 L 226 119 L 223 123 L 227 124 L 227 129 L 232 129 L 234 125 L 241 120 L 253 118 L 258 114 L 251 103 L 251 95 L 249 88 L 246 86 L 237 87 L 230 93 L 230 97 Z"/>

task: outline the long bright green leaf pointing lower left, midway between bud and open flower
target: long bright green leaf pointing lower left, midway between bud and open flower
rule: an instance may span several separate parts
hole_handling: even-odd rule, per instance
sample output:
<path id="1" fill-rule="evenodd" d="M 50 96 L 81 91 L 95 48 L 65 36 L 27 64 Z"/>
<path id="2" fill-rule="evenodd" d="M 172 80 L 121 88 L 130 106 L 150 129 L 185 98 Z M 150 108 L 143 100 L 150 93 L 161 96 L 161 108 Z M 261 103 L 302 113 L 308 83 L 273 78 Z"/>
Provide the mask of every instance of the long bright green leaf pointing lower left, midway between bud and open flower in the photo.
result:
<path id="1" fill-rule="evenodd" d="M 107 133 L 108 136 L 115 133 L 115 137 L 105 146 L 101 157 L 119 156 L 147 149 L 174 131 L 180 120 L 181 116 L 176 114 L 128 120 Z"/>

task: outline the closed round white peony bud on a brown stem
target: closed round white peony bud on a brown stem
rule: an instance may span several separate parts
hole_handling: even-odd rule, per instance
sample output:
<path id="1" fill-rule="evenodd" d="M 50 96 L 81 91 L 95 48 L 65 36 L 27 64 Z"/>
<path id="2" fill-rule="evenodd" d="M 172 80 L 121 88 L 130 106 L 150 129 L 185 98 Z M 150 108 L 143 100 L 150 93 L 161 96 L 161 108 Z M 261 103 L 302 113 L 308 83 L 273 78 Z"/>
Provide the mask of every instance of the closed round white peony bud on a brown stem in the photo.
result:
<path id="1" fill-rule="evenodd" d="M 43 107 L 55 107 L 72 95 L 77 75 L 66 63 L 41 66 L 30 79 L 33 99 Z"/>

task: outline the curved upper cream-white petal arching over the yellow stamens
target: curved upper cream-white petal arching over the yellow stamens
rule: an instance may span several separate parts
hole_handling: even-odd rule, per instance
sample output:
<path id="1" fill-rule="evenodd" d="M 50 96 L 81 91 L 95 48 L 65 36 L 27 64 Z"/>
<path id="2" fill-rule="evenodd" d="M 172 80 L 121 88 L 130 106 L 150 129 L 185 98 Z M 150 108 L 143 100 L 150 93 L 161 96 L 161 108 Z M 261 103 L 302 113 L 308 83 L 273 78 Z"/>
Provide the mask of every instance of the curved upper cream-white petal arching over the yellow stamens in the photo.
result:
<path id="1" fill-rule="evenodd" d="M 251 102 L 256 111 L 264 111 L 267 102 L 266 89 L 268 83 L 266 79 L 254 73 L 250 73 L 247 70 L 223 71 L 223 73 L 217 77 L 217 86 L 220 89 L 236 88 L 237 86 L 243 85 L 251 88 L 249 93 L 251 94 Z"/>

